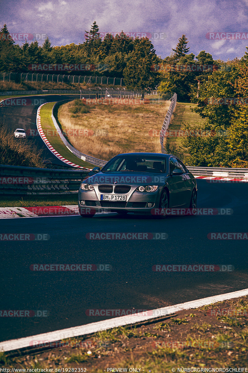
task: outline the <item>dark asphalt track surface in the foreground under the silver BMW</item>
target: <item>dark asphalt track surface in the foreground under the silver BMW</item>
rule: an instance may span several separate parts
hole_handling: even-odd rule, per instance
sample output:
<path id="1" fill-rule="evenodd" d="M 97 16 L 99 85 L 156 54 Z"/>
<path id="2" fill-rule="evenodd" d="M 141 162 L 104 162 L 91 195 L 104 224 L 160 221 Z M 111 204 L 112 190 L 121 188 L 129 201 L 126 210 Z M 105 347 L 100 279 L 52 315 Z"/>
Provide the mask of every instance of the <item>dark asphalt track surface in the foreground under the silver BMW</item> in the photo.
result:
<path id="1" fill-rule="evenodd" d="M 229 216 L 128 214 L 1 219 L 1 233 L 43 233 L 48 241 L 1 241 L 1 310 L 47 310 L 47 317 L 1 317 L 1 341 L 96 322 L 88 309 L 148 310 L 247 288 L 247 183 L 199 180 L 198 206 Z M 76 203 L 76 201 L 75 201 Z M 90 240 L 89 232 L 166 232 L 168 239 Z M 34 272 L 31 264 L 110 264 L 111 272 Z M 154 272 L 154 264 L 223 264 L 225 272 Z"/>

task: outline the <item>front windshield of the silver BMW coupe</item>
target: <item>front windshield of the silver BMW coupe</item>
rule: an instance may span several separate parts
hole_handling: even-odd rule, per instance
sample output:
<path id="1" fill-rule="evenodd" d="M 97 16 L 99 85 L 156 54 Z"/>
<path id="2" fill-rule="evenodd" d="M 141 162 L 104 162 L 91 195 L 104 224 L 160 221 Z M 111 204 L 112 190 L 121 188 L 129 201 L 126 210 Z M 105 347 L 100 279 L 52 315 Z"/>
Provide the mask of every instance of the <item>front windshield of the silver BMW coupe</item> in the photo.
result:
<path id="1" fill-rule="evenodd" d="M 113 158 L 103 167 L 102 172 L 107 171 L 164 173 L 166 171 L 166 162 L 164 157 L 121 156 Z"/>

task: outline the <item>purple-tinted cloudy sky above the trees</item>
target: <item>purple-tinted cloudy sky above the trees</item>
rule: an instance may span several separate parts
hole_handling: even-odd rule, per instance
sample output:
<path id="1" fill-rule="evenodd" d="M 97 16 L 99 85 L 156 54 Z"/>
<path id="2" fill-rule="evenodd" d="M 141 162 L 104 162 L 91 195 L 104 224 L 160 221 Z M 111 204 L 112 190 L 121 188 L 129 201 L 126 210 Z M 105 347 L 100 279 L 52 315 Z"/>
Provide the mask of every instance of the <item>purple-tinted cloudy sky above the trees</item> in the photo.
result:
<path id="1" fill-rule="evenodd" d="M 32 37 L 42 44 L 46 36 L 52 46 L 83 43 L 96 21 L 102 35 L 149 37 L 162 58 L 183 34 L 196 56 L 205 50 L 227 61 L 248 46 L 248 0 L 0 0 L 0 6 L 0 28 L 6 23 L 20 45 Z"/>

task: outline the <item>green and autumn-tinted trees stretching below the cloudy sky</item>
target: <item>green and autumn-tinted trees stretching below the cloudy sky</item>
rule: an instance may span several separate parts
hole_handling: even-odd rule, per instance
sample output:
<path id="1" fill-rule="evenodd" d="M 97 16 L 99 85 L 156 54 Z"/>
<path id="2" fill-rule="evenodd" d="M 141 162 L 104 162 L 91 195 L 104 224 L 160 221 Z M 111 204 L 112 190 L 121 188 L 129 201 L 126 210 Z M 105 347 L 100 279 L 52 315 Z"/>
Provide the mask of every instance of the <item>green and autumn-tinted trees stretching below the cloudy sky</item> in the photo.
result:
<path id="1" fill-rule="evenodd" d="M 122 77 L 128 89 L 157 88 L 162 96 L 175 92 L 178 101 L 197 104 L 192 110 L 206 120 L 201 126 L 185 125 L 189 135 L 183 146 L 184 154 L 189 154 L 188 164 L 248 167 L 248 52 L 240 60 L 223 62 L 205 50 L 195 56 L 188 43 L 182 35 L 170 56 L 162 59 L 148 38 L 132 38 L 123 31 L 101 38 L 94 22 L 80 44 L 51 46 L 46 38 L 42 46 L 38 41 L 19 46 L 4 25 L 0 30 L 0 71 L 25 72 L 35 63 L 102 65 L 102 70 L 88 74 Z M 203 132 L 209 135 L 193 135 Z"/>

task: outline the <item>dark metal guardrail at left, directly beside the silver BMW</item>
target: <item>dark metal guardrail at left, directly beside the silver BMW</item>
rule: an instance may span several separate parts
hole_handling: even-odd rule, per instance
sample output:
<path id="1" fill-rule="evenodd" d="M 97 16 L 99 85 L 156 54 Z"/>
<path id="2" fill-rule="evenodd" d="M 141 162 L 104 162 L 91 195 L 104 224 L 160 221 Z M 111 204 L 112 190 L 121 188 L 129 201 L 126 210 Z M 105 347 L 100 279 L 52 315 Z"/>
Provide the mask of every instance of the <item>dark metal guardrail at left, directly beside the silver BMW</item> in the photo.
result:
<path id="1" fill-rule="evenodd" d="M 1 164 L 0 193 L 5 196 L 76 194 L 89 172 Z"/>

